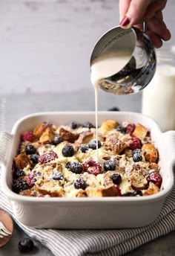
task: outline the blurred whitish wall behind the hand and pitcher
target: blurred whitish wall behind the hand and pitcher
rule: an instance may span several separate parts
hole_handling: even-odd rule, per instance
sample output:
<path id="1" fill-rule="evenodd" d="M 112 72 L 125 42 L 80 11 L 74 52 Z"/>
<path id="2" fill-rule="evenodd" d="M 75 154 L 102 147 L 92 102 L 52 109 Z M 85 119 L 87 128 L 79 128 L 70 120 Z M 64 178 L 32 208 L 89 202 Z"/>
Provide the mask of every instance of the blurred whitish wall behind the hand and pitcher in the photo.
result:
<path id="1" fill-rule="evenodd" d="M 175 1 L 165 21 L 175 43 Z M 61 92 L 90 85 L 96 39 L 119 24 L 117 0 L 0 0 L 0 93 Z"/>

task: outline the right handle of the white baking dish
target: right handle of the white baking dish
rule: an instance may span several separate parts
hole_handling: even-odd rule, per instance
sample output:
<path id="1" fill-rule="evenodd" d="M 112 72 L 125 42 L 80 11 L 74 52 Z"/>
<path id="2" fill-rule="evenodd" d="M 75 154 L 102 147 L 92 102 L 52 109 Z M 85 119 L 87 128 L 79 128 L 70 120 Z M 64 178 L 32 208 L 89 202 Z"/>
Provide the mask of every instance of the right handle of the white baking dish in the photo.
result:
<path id="1" fill-rule="evenodd" d="M 175 170 L 175 130 L 162 133 L 164 147 L 167 150 L 168 162 Z"/>

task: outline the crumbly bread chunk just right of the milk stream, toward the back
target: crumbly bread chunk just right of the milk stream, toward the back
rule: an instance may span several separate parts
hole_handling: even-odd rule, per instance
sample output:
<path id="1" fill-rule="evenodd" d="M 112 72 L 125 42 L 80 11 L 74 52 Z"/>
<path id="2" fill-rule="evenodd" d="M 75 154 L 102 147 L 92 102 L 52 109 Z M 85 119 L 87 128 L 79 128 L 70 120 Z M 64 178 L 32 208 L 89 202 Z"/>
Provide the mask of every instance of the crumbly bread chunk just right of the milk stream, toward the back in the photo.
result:
<path id="1" fill-rule="evenodd" d="M 119 140 L 116 133 L 107 136 L 104 146 L 107 150 L 112 150 L 116 154 L 121 153 L 127 147 L 123 141 Z"/>

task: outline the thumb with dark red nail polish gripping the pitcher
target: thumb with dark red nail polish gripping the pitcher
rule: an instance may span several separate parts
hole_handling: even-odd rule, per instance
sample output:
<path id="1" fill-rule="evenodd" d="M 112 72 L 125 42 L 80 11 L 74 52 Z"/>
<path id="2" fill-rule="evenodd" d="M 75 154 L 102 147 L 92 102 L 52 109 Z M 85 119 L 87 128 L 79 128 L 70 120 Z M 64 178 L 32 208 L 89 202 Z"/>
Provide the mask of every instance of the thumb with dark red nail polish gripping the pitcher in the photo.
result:
<path id="1" fill-rule="evenodd" d="M 129 21 L 128 25 L 125 24 L 126 22 L 124 22 L 123 24 L 123 20 L 120 23 L 120 25 L 122 26 L 127 25 L 127 27 L 131 27 L 133 25 L 136 25 L 142 22 L 142 19 L 150 3 L 151 3 L 151 0 L 132 0 L 128 8 L 128 12 L 126 13 L 126 16 L 128 17 L 128 21 Z M 126 20 L 126 16 L 124 18 L 125 20 Z"/>

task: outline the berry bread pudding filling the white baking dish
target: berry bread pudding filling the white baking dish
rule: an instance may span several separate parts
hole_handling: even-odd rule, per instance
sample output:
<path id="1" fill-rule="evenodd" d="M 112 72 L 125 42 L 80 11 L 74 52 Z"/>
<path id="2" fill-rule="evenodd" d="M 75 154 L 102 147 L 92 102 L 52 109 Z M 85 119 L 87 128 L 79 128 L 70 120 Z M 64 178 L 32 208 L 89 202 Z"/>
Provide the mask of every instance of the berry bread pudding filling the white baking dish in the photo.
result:
<path id="1" fill-rule="evenodd" d="M 98 158 L 96 148 L 98 147 Z M 142 124 L 43 122 L 21 135 L 12 190 L 23 196 L 148 196 L 162 184 L 159 153 Z"/>

